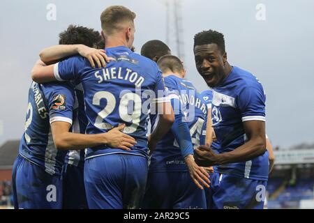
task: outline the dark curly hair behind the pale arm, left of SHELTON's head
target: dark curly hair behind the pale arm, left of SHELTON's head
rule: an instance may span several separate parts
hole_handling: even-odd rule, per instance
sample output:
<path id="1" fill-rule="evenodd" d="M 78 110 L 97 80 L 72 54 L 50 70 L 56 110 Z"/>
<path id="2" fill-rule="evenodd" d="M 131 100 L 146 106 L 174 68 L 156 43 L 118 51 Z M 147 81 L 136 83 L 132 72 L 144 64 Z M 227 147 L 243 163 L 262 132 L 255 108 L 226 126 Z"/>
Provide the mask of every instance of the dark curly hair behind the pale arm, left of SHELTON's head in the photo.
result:
<path id="1" fill-rule="evenodd" d="M 84 26 L 70 25 L 66 31 L 59 34 L 59 44 L 84 44 L 88 47 L 103 47 L 103 38 L 98 31 Z"/>

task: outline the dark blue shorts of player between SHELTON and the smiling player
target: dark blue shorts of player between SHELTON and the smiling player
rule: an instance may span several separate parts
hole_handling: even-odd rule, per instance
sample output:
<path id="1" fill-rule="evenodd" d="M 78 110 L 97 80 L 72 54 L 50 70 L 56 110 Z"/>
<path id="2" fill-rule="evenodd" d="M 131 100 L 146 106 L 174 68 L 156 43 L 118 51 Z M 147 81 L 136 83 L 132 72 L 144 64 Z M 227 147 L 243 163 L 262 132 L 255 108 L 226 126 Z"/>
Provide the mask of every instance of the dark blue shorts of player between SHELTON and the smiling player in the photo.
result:
<path id="1" fill-rule="evenodd" d="M 204 190 L 200 190 L 188 171 L 150 172 L 142 208 L 205 209 Z"/>

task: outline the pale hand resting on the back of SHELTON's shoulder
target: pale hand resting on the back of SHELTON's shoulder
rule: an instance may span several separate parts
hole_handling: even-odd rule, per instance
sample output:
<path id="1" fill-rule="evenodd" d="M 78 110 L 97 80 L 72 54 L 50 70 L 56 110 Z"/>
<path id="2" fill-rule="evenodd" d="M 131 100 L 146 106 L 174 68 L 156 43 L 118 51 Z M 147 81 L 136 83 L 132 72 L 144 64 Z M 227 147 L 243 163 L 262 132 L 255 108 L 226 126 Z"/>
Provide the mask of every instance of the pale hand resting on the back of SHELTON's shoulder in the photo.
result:
<path id="1" fill-rule="evenodd" d="M 81 56 L 86 57 L 93 68 L 95 68 L 95 63 L 98 68 L 102 68 L 106 66 L 106 63 L 111 61 L 110 57 L 105 54 L 104 49 L 95 49 L 85 45 L 79 45 L 77 52 Z"/>

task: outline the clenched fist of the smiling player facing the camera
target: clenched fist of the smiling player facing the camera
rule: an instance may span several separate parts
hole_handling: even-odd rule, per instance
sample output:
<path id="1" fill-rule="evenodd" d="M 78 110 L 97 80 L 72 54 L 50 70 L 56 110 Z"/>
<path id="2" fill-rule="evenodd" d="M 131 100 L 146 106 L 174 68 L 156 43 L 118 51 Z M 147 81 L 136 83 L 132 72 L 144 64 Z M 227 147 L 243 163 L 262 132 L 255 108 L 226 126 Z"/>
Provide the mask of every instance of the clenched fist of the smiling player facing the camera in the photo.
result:
<path id="1" fill-rule="evenodd" d="M 194 159 L 197 165 L 201 167 L 211 167 L 217 164 L 217 155 L 208 146 L 200 146 L 194 151 Z"/>

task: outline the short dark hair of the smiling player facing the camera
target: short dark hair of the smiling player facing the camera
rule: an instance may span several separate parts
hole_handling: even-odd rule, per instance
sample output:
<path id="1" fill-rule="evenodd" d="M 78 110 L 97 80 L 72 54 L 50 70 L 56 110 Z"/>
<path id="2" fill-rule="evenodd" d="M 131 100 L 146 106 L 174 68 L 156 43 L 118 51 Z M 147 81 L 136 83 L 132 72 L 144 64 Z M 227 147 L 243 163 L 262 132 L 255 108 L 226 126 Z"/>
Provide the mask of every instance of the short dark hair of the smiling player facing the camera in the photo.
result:
<path id="1" fill-rule="evenodd" d="M 211 43 L 216 43 L 218 49 L 220 49 L 220 52 L 222 54 L 225 53 L 225 38 L 223 36 L 223 33 L 219 33 L 218 31 L 209 29 L 208 31 L 202 31 L 200 33 L 197 33 L 194 36 L 194 47 L 197 45 L 205 45 Z"/>

